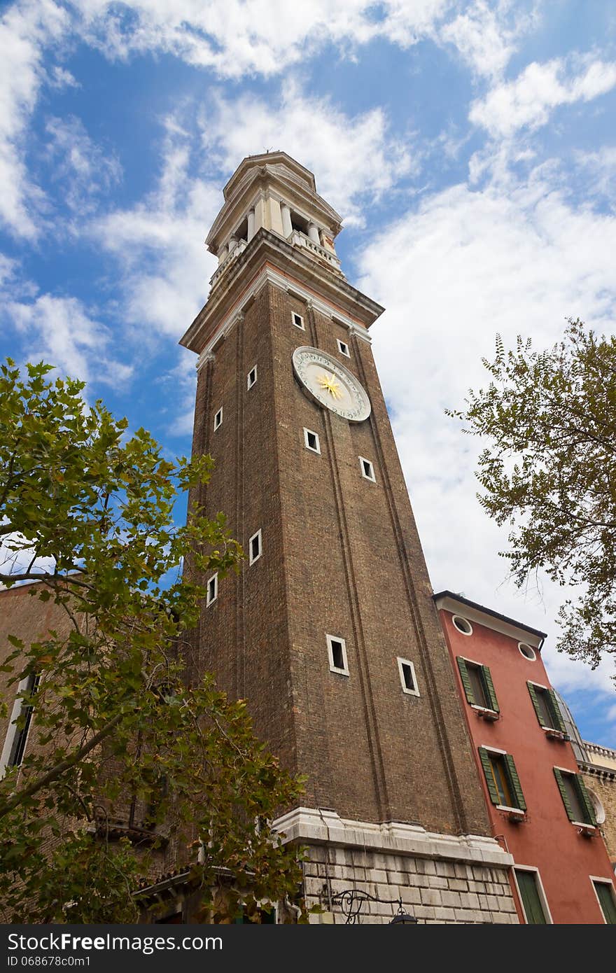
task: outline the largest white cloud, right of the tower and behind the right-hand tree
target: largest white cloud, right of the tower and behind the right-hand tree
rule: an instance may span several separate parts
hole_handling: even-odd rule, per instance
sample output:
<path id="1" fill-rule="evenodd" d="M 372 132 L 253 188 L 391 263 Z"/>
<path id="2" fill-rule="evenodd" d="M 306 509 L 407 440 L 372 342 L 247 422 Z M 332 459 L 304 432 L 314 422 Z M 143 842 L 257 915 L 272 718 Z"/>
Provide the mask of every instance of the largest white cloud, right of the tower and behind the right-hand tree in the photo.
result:
<path id="1" fill-rule="evenodd" d="M 613 694 L 612 665 L 592 672 L 551 647 L 562 589 L 546 581 L 524 595 L 506 582 L 506 531 L 475 497 L 480 444 L 444 415 L 488 383 L 481 357 L 496 333 L 543 347 L 568 315 L 612 328 L 616 217 L 574 208 L 542 181 L 548 172 L 504 192 L 459 185 L 424 199 L 364 250 L 358 286 L 387 306 L 375 355 L 435 589 L 548 631 L 545 658 L 565 691 Z"/>

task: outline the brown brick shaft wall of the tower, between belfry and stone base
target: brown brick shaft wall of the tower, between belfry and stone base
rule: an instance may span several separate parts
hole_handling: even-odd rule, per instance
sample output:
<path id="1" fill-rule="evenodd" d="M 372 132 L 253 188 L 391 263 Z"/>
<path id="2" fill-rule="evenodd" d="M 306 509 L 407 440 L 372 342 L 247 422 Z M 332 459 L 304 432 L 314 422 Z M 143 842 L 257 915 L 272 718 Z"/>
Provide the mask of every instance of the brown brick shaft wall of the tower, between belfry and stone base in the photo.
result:
<path id="1" fill-rule="evenodd" d="M 293 311 L 306 331 L 292 324 Z M 369 420 L 349 423 L 308 399 L 291 364 L 303 344 L 362 381 Z M 247 390 L 255 364 L 258 381 Z M 321 455 L 305 449 L 305 426 L 319 435 Z M 203 607 L 199 666 L 245 696 L 257 731 L 286 766 L 308 774 L 308 806 L 486 833 L 370 345 L 267 284 L 201 369 L 195 449 L 217 461 L 201 497 L 207 513 L 224 510 L 245 547 L 261 528 L 264 545 Z M 362 478 L 359 454 L 373 461 L 376 484 Z M 349 677 L 330 671 L 326 633 L 344 637 Z M 419 698 L 402 692 L 398 656 L 414 662 Z"/>

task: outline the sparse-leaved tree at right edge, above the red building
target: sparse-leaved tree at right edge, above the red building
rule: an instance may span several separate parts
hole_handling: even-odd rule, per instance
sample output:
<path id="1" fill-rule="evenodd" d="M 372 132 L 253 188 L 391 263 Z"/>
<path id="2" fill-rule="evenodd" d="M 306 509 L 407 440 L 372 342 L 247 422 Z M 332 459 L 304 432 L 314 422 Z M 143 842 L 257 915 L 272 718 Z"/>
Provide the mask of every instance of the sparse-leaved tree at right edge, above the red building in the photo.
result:
<path id="1" fill-rule="evenodd" d="M 489 441 L 480 503 L 510 525 L 515 583 L 543 571 L 578 591 L 559 613 L 558 647 L 598 666 L 616 651 L 616 339 L 571 319 L 561 342 L 534 351 L 499 337 L 487 388 L 448 411 Z"/>

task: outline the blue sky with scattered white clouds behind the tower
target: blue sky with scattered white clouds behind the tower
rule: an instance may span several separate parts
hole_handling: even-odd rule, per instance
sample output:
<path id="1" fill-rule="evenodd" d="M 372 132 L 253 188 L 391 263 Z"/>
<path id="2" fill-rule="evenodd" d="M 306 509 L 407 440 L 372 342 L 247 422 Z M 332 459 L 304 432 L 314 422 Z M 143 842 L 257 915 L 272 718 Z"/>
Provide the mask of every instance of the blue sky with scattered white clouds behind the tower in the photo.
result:
<path id="1" fill-rule="evenodd" d="M 551 647 L 563 592 L 506 580 L 478 445 L 444 415 L 494 336 L 612 330 L 616 8 L 601 0 L 5 4 L 0 351 L 89 382 L 190 450 L 203 239 L 242 157 L 283 149 L 344 216 L 436 590 L 550 633 L 583 735 L 616 745 L 613 666 Z"/>

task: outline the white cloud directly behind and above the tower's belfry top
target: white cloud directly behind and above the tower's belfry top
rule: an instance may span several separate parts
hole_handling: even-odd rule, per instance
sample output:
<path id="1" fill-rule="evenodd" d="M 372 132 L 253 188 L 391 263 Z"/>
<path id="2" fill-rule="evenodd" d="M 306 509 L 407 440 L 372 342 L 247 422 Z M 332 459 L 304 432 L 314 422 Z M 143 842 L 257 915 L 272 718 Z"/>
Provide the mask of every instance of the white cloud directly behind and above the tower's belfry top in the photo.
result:
<path id="1" fill-rule="evenodd" d="M 234 124 L 229 125 L 229 119 Z M 317 174 L 318 192 L 347 226 L 364 222 L 362 208 L 417 168 L 409 143 L 394 135 L 380 108 L 349 117 L 326 97 L 283 86 L 272 104 L 252 95 L 220 96 L 201 120 L 203 145 L 230 173 L 244 156 L 284 149 Z"/>

